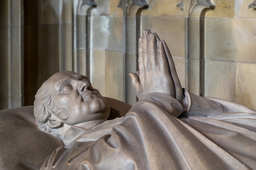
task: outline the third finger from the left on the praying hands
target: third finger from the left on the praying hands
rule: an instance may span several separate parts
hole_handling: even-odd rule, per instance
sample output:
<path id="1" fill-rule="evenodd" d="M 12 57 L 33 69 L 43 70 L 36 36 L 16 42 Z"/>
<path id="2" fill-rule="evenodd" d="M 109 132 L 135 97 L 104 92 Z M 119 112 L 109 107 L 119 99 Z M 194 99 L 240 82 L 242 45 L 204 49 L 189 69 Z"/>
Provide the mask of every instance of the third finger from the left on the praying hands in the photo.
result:
<path id="1" fill-rule="evenodd" d="M 148 43 L 148 57 L 150 69 L 157 68 L 157 42 L 155 38 L 155 34 L 149 34 L 149 43 Z"/>

